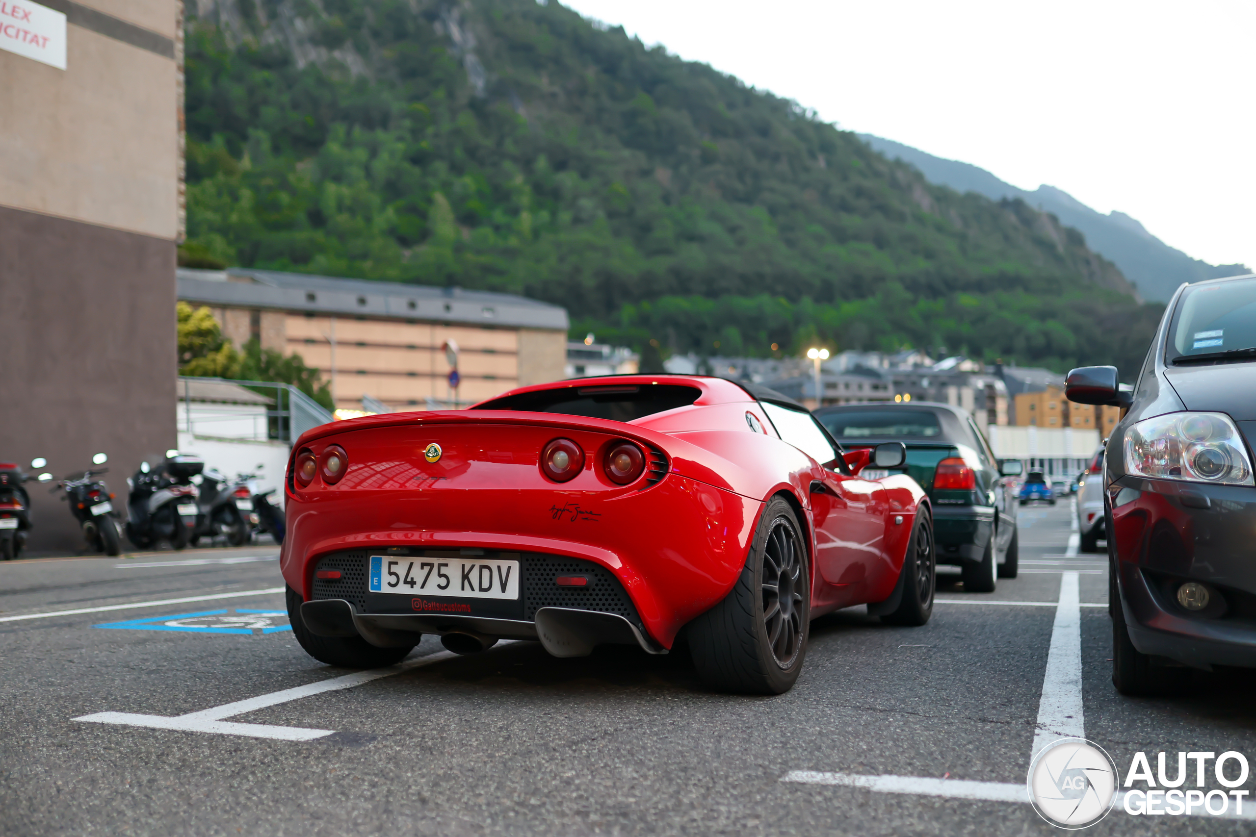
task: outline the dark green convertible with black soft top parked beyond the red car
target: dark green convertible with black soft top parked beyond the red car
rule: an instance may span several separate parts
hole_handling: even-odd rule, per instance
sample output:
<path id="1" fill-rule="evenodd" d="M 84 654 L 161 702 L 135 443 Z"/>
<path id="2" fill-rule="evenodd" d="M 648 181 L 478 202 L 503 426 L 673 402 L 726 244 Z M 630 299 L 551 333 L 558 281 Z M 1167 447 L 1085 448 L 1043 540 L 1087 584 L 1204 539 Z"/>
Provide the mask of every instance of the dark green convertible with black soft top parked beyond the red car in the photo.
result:
<path id="1" fill-rule="evenodd" d="M 1011 481 L 1019 459 L 999 462 L 966 410 L 948 404 L 849 404 L 824 407 L 815 417 L 847 449 L 885 442 L 907 447 L 903 468 L 864 476 L 906 473 L 933 503 L 938 562 L 958 563 L 966 590 L 991 592 L 996 578 L 1015 578 L 1020 538 Z"/>

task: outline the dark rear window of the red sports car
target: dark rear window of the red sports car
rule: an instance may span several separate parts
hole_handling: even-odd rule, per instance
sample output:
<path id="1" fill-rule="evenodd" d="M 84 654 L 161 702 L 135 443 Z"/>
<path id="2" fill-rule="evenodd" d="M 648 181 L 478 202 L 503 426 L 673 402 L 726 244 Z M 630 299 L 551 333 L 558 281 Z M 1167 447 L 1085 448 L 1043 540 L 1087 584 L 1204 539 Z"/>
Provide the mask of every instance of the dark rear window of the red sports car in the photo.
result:
<path id="1" fill-rule="evenodd" d="M 687 407 L 698 399 L 697 387 L 676 384 L 624 384 L 609 387 L 564 387 L 506 395 L 476 407 L 481 410 L 526 410 L 585 415 L 612 422 L 632 422 L 663 410 Z"/>

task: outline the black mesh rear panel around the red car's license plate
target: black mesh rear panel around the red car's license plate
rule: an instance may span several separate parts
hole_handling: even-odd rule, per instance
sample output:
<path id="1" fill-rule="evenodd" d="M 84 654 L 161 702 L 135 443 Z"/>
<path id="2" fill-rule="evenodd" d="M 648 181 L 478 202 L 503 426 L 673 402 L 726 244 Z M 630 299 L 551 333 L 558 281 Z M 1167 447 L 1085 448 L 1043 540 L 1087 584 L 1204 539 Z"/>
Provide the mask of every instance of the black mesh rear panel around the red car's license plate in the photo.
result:
<path id="1" fill-rule="evenodd" d="M 421 550 L 414 550 L 420 555 Z M 378 555 L 378 552 L 377 552 Z M 517 555 L 517 553 L 516 553 Z M 315 576 L 311 599 L 344 599 L 353 602 L 359 612 L 367 609 L 367 566 L 371 553 L 365 551 L 335 552 L 324 556 L 317 570 L 339 570 L 340 578 L 323 580 Z M 582 558 L 569 558 L 558 555 L 522 553 L 519 556 L 521 570 L 521 592 L 524 599 L 524 617 L 536 619 L 541 607 L 574 607 L 595 610 L 623 616 L 633 625 L 641 625 L 637 609 L 628 592 L 613 572 Z M 559 587 L 555 576 L 587 576 L 585 587 Z"/>

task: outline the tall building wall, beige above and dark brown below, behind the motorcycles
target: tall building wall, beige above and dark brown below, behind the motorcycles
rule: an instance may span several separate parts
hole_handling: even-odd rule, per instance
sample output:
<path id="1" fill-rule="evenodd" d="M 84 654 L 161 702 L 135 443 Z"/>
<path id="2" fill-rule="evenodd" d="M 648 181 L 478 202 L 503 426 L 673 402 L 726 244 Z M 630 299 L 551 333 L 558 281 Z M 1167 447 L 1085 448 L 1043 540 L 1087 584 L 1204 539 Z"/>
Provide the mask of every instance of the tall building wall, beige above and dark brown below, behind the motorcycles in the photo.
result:
<path id="1" fill-rule="evenodd" d="M 65 70 L 0 51 L 0 445 L 58 476 L 108 453 L 124 494 L 176 443 L 180 13 L 85 6 L 67 5 Z M 33 552 L 83 547 L 64 503 L 30 496 Z"/>

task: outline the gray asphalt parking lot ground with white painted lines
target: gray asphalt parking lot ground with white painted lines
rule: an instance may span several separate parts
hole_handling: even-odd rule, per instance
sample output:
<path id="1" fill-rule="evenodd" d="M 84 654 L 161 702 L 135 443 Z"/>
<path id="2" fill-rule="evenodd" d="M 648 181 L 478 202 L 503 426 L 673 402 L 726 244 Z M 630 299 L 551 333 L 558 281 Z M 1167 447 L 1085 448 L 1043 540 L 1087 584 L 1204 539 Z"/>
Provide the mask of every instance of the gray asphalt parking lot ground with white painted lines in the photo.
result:
<path id="1" fill-rule="evenodd" d="M 0 834 L 1045 834 L 1012 789 L 1035 737 L 1081 732 L 1120 770 L 1256 752 L 1256 678 L 1115 693 L 1105 558 L 1068 504 L 1022 508 L 1020 538 L 1020 577 L 941 577 L 924 627 L 818 620 L 777 698 L 627 648 L 427 637 L 398 670 L 330 669 L 286 629 L 270 546 L 0 565 Z M 1119 806 L 1089 829 L 1253 831 Z"/>

